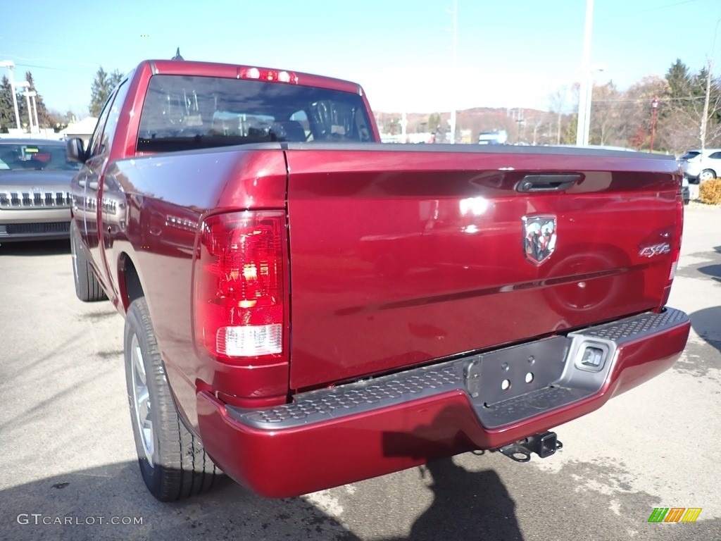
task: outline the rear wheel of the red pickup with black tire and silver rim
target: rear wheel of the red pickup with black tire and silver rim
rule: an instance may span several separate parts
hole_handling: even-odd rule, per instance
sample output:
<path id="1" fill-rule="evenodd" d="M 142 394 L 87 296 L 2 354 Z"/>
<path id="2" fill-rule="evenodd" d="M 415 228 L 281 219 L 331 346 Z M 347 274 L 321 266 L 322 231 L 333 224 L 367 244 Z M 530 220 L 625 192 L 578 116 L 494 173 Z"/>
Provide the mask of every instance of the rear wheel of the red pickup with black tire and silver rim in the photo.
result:
<path id="1" fill-rule="evenodd" d="M 205 454 L 200 439 L 185 428 L 177 413 L 144 297 L 133 301 L 128 309 L 123 343 L 133 436 L 141 475 L 148 490 L 159 501 L 177 501 L 207 491 L 220 471 Z M 144 370 L 149 397 L 144 410 L 137 399 L 138 389 L 141 392 L 143 389 L 139 385 L 139 368 L 134 368 L 138 363 Z M 135 374 L 133 370 L 136 370 Z M 152 449 L 146 449 L 146 440 L 141 434 L 141 424 L 148 426 L 141 421 L 143 418 L 151 423 L 151 436 L 147 439 Z"/>

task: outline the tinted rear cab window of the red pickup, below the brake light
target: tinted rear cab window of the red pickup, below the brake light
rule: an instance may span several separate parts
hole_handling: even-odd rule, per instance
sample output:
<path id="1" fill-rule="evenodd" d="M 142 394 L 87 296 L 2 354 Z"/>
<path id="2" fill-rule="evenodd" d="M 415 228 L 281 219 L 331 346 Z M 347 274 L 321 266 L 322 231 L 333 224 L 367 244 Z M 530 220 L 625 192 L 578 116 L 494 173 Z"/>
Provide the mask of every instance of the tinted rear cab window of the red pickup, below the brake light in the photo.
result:
<path id="1" fill-rule="evenodd" d="M 298 84 L 155 75 L 141 113 L 138 152 L 237 144 L 371 142 L 363 99 Z"/>

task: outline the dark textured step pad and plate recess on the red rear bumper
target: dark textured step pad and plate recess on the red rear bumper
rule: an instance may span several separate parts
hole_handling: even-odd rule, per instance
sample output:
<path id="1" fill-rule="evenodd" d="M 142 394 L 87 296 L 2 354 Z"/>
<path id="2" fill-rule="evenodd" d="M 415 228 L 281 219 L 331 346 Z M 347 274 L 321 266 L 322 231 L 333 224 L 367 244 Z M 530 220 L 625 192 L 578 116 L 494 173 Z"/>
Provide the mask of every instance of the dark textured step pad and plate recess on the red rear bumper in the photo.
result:
<path id="1" fill-rule="evenodd" d="M 594 395 L 609 376 L 620 346 L 688 322 L 684 312 L 667 308 L 567 336 L 305 392 L 287 405 L 261 410 L 226 405 L 226 410 L 247 426 L 279 430 L 462 391 L 482 426 L 499 428 Z"/>

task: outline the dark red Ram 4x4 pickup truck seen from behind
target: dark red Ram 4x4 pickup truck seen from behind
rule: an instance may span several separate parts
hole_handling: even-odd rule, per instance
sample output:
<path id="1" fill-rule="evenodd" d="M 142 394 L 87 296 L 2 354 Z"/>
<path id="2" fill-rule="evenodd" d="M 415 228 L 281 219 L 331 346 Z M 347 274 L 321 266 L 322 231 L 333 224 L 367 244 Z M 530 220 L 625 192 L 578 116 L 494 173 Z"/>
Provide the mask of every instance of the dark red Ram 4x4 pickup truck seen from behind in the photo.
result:
<path id="1" fill-rule="evenodd" d="M 546 457 L 683 351 L 673 157 L 378 141 L 357 84 L 189 61 L 68 141 L 76 293 L 125 317 L 156 498 Z"/>

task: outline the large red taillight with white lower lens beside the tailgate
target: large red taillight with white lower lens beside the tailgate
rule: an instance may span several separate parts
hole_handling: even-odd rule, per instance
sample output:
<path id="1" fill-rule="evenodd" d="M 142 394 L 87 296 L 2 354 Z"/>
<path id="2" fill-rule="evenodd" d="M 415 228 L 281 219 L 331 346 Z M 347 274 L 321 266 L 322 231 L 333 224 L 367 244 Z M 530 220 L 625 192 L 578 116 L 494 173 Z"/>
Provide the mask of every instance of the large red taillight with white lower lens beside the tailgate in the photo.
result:
<path id="1" fill-rule="evenodd" d="M 195 263 L 195 337 L 222 361 L 283 357 L 283 211 L 217 214 L 203 222 Z"/>

